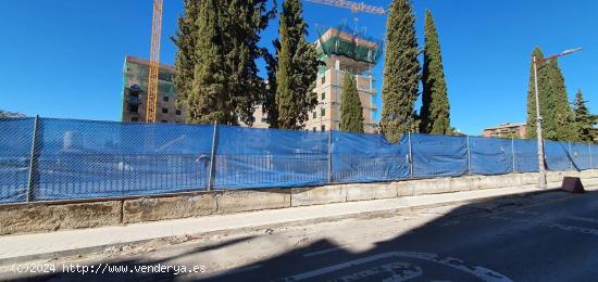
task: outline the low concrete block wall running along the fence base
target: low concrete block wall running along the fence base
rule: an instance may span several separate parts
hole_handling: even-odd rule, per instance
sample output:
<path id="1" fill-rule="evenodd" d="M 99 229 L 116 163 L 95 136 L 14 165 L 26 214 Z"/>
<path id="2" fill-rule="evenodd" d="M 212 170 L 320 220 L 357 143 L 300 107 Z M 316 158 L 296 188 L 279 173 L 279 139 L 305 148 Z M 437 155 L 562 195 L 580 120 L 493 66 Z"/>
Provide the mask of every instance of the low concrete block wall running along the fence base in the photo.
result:
<path id="1" fill-rule="evenodd" d="M 598 184 L 598 169 L 594 169 L 549 171 L 548 187 L 559 188 L 565 176 L 581 177 L 585 185 Z M 0 205 L 0 235 L 482 189 L 533 188 L 537 181 L 537 172 L 524 172 L 315 188 L 196 192 L 74 204 Z"/>

